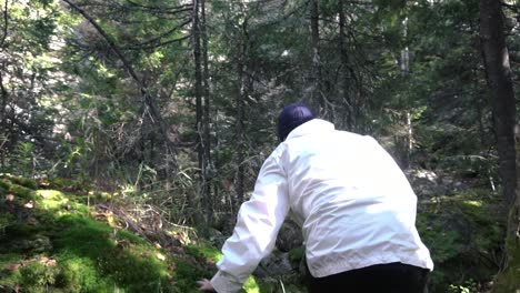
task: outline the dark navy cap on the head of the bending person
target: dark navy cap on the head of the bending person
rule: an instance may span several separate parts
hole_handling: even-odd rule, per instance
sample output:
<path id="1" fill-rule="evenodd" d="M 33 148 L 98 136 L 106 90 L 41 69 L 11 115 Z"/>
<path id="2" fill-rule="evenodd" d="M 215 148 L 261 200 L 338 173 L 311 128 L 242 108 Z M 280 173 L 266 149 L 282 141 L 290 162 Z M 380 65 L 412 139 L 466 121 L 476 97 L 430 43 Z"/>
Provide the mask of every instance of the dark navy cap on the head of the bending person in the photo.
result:
<path id="1" fill-rule="evenodd" d="M 298 102 L 286 105 L 278 115 L 278 139 L 280 142 L 284 141 L 293 129 L 314 118 L 312 109 L 304 103 Z"/>

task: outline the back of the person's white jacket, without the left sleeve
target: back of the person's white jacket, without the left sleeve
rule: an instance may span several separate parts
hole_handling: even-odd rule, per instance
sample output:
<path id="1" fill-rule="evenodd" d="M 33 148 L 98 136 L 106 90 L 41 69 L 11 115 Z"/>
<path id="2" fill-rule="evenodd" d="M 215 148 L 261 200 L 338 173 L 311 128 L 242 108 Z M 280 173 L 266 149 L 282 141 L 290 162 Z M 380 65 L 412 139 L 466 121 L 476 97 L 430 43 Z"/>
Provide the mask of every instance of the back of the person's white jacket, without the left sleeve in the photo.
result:
<path id="1" fill-rule="evenodd" d="M 393 262 L 431 266 L 414 228 L 416 194 L 376 140 L 314 119 L 277 151 L 313 276 Z"/>

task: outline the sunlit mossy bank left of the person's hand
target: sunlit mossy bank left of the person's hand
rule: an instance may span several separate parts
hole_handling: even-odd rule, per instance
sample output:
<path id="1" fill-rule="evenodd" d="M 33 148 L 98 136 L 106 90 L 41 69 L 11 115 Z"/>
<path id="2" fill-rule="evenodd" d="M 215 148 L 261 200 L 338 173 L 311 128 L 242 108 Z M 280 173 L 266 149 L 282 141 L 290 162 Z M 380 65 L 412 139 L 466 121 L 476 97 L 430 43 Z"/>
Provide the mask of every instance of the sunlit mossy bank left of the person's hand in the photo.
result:
<path id="1" fill-rule="evenodd" d="M 98 221 L 87 195 L 69 193 L 79 185 L 63 182 L 38 190 L 34 181 L 0 179 L 0 292 L 198 292 L 196 281 L 214 273 L 216 247 L 158 249 Z"/>

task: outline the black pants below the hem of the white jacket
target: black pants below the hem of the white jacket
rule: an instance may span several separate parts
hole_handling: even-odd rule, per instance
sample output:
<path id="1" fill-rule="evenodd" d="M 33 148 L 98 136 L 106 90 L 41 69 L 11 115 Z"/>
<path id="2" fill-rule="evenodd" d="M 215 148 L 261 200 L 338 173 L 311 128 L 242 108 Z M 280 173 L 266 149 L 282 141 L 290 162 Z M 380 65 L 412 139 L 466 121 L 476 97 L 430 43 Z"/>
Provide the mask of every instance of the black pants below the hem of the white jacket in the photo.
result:
<path id="1" fill-rule="evenodd" d="M 429 270 L 402 263 L 377 264 L 313 277 L 310 293 L 424 293 Z"/>

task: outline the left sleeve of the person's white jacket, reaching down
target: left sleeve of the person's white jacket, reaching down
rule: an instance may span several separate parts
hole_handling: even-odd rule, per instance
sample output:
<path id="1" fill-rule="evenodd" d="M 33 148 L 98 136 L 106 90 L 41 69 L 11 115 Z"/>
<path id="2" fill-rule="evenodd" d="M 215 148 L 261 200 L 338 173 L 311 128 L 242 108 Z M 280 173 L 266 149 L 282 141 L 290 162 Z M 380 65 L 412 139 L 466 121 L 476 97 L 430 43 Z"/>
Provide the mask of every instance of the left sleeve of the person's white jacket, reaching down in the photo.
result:
<path id="1" fill-rule="evenodd" d="M 233 234 L 222 246 L 223 259 L 211 284 L 219 293 L 238 292 L 258 263 L 274 247 L 289 211 L 287 179 L 273 155 L 260 170 L 251 199 L 238 213 Z"/>

